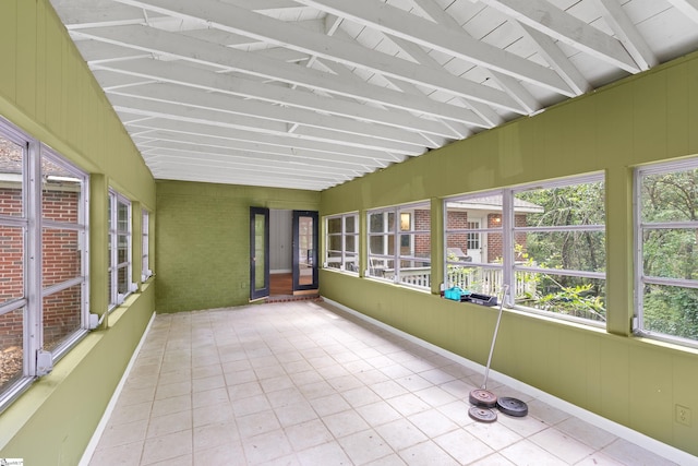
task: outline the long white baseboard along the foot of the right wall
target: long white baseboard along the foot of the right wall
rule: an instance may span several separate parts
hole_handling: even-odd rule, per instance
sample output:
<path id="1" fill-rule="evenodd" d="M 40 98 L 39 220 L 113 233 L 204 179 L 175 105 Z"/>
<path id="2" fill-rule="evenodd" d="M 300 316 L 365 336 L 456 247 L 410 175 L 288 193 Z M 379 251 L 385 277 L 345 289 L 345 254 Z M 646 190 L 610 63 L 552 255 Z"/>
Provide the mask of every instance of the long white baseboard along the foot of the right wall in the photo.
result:
<path id="1" fill-rule="evenodd" d="M 399 335 L 401 337 L 404 337 L 405 339 L 411 342 L 411 343 L 416 343 L 426 349 L 430 349 L 441 356 L 444 356 L 450 360 L 453 360 L 454 362 L 458 362 L 460 365 L 462 365 L 464 367 L 471 369 L 471 370 L 476 370 L 478 372 L 484 372 L 484 366 L 479 365 L 478 362 L 471 361 L 470 359 L 466 359 L 461 356 L 458 356 L 454 353 L 448 351 L 447 349 L 444 349 L 440 346 L 433 345 L 429 342 L 425 342 L 421 338 L 416 337 L 414 335 L 410 335 L 409 333 L 402 332 L 401 330 L 395 328 L 384 322 L 381 322 L 376 319 L 373 319 L 369 315 L 362 314 L 359 311 L 356 311 L 351 308 L 348 308 L 344 304 L 340 304 L 339 302 L 333 301 L 332 299 L 327 299 L 325 297 L 322 297 L 323 300 L 325 302 L 327 302 L 330 306 L 334 306 L 345 312 L 350 313 L 351 315 L 354 315 L 365 322 L 372 323 L 383 330 L 386 330 L 395 335 Z M 514 390 L 517 390 L 526 395 L 529 395 L 535 399 L 539 399 L 554 408 L 557 408 L 562 411 L 565 411 L 567 414 L 569 414 L 570 416 L 574 416 L 576 418 L 579 418 L 586 422 L 589 422 L 590 425 L 598 427 L 600 429 L 603 429 L 621 439 L 627 440 L 628 442 L 633 442 L 637 445 L 642 445 L 643 449 L 651 451 L 654 454 L 658 454 L 660 456 L 665 457 L 669 461 L 672 461 L 678 465 L 686 465 L 686 466 L 690 466 L 690 465 L 696 465 L 697 463 L 697 458 L 696 456 L 684 452 L 683 450 L 678 450 L 672 445 L 669 445 L 666 443 L 660 442 L 657 439 L 653 439 L 651 437 L 648 437 L 643 433 L 640 433 L 636 430 L 629 429 L 623 425 L 619 425 L 617 422 L 614 422 L 610 419 L 606 419 L 602 416 L 599 416 L 594 413 L 591 413 L 587 409 L 580 408 L 579 406 L 573 405 L 571 403 L 565 402 L 562 398 L 558 398 L 556 396 L 553 396 L 549 393 L 545 393 L 539 389 L 535 389 L 534 386 L 528 385 L 519 380 L 513 379 L 508 375 L 505 375 L 501 372 L 494 371 L 492 369 L 490 369 L 490 373 L 489 373 L 489 379 L 495 380 L 502 384 L 505 384 Z"/>

